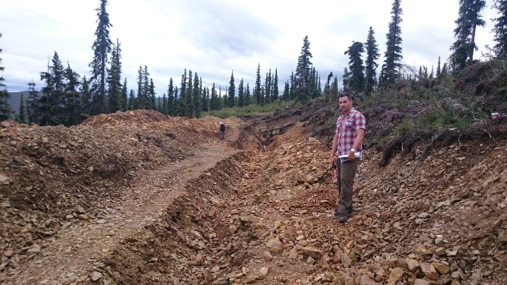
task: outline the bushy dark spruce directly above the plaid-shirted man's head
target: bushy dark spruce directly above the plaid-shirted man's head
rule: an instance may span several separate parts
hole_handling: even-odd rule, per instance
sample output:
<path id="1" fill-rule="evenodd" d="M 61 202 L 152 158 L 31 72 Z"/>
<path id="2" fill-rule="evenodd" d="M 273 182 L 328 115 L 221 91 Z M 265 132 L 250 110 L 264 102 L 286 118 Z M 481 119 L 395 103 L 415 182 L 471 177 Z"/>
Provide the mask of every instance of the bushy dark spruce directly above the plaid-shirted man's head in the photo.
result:
<path id="1" fill-rule="evenodd" d="M 347 80 L 349 91 L 360 93 L 365 90 L 365 67 L 363 66 L 363 58 L 361 54 L 365 52 L 363 43 L 352 41 L 352 45 L 345 54 L 349 56 L 350 76 Z"/>

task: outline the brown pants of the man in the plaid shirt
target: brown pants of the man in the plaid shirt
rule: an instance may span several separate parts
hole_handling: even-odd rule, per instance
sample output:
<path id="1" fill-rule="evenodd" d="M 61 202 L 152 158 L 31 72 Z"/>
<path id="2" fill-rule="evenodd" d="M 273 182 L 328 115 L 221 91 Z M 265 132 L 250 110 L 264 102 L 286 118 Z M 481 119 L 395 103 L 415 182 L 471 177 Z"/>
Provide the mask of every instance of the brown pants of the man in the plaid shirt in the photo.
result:
<path id="1" fill-rule="evenodd" d="M 348 213 L 350 206 L 352 205 L 352 186 L 354 185 L 355 170 L 359 163 L 359 158 L 353 161 L 340 162 L 339 158 L 336 158 L 337 170 L 340 175 L 337 175 L 338 181 L 338 195 L 340 200 L 338 201 L 338 212 Z"/>

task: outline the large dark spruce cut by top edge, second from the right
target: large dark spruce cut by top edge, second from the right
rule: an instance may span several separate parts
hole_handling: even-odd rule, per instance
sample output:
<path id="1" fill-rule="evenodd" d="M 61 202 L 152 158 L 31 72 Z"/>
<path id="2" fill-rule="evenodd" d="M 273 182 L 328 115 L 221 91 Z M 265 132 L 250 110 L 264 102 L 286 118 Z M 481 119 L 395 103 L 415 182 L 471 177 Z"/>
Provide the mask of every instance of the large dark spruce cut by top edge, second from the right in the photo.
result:
<path id="1" fill-rule="evenodd" d="M 454 38 L 449 57 L 454 70 L 461 70 L 467 62 L 474 60 L 475 33 L 477 26 L 484 26 L 486 22 L 481 18 L 481 11 L 486 6 L 485 0 L 459 0 L 458 19 L 454 21 Z"/>

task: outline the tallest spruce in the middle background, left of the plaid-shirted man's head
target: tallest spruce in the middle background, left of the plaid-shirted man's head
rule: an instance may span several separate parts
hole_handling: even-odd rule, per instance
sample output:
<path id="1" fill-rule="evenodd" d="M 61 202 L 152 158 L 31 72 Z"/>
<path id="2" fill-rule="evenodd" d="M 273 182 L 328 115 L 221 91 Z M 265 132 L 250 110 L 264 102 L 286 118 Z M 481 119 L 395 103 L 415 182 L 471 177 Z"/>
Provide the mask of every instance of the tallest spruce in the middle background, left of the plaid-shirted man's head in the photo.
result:
<path id="1" fill-rule="evenodd" d="M 303 39 L 303 47 L 301 48 L 301 55 L 298 58 L 298 65 L 296 66 L 296 75 L 294 80 L 294 95 L 298 101 L 306 103 L 308 101 L 308 85 L 310 84 L 310 73 L 312 63 L 310 61 L 312 54 L 310 53 L 310 42 L 308 35 Z"/>

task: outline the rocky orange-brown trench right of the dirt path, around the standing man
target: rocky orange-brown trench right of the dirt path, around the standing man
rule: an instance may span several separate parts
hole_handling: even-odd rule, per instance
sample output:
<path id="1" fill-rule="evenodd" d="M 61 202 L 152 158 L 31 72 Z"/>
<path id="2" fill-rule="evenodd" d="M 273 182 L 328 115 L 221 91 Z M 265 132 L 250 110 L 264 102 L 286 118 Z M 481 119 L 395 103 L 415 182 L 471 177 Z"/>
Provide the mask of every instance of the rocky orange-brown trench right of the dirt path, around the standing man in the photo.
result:
<path id="1" fill-rule="evenodd" d="M 367 152 L 357 212 L 346 224 L 333 216 L 328 150 L 302 124 L 271 141 L 268 153 L 240 151 L 190 181 L 157 221 L 100 263 L 101 272 L 118 283 L 174 285 L 507 280 L 501 137 L 429 157 L 415 147 L 383 169 L 381 154 Z M 484 144 L 488 158 L 466 155 Z"/>

